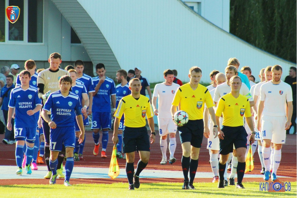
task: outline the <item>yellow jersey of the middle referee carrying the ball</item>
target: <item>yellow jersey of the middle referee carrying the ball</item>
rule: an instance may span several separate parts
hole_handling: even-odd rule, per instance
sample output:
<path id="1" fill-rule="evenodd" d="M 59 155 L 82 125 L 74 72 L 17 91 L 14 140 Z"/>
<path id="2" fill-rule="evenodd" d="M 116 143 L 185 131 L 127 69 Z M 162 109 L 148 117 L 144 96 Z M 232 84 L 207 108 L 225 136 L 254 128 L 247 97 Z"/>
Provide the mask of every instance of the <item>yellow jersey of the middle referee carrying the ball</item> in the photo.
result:
<path id="1" fill-rule="evenodd" d="M 172 105 L 178 106 L 181 103 L 181 110 L 186 111 L 189 120 L 203 119 L 203 109 L 214 106 L 214 101 L 206 87 L 198 84 L 197 89 L 193 90 L 189 83 L 178 88 L 174 96 Z"/>

